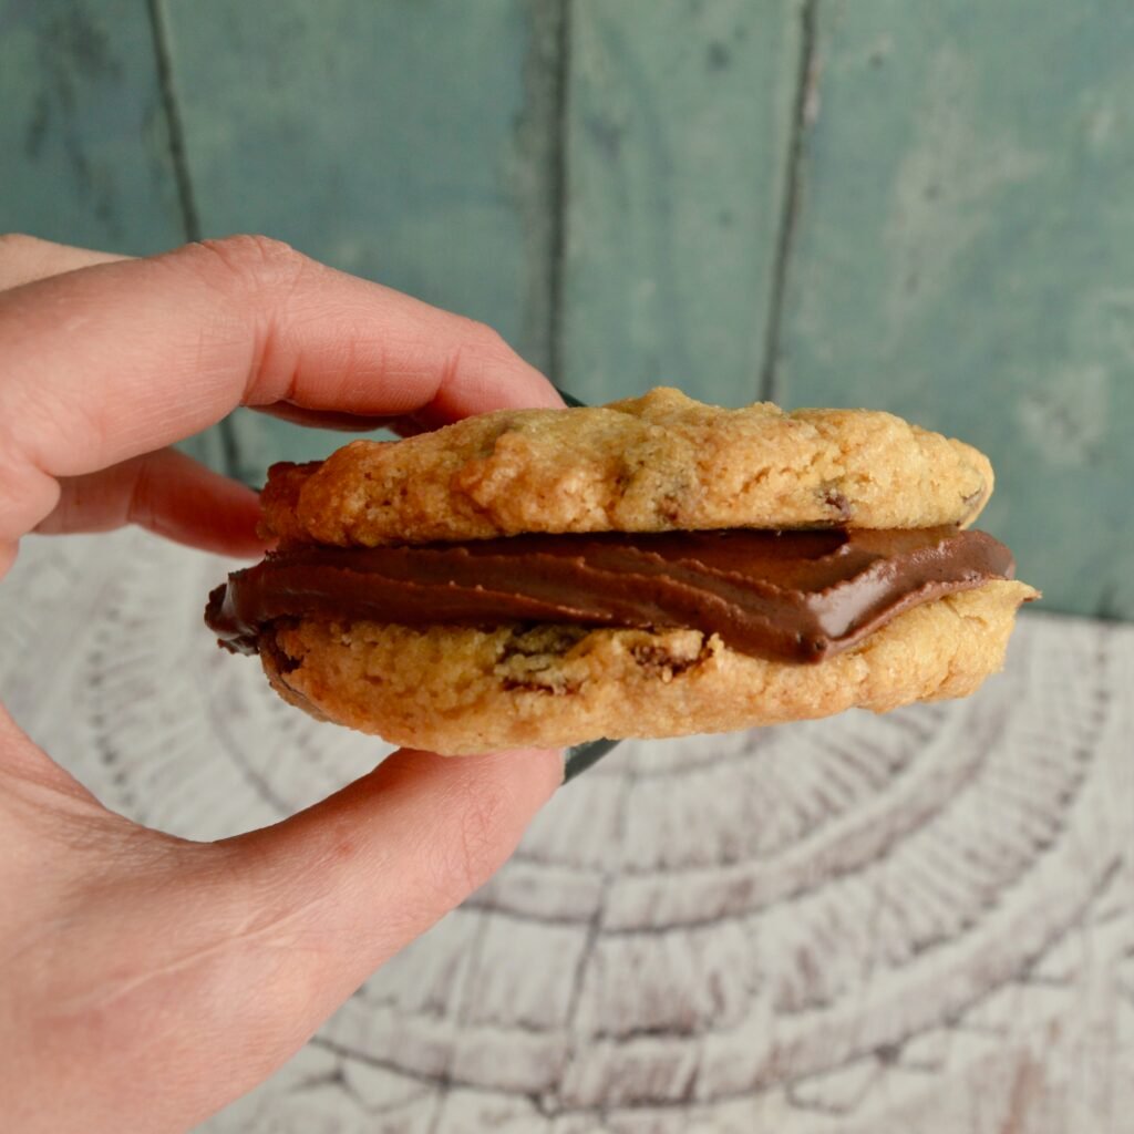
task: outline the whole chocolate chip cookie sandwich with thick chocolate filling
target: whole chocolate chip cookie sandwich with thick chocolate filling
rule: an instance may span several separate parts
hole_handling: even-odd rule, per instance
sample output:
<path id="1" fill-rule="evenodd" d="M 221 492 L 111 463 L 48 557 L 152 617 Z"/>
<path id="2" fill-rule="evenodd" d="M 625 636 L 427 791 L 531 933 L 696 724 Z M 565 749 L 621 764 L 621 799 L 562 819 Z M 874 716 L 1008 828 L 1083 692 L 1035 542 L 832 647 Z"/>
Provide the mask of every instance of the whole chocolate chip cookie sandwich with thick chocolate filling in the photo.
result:
<path id="1" fill-rule="evenodd" d="M 988 459 L 886 413 L 677 390 L 276 465 L 210 596 L 312 716 L 446 754 L 972 693 L 1021 603 Z"/>

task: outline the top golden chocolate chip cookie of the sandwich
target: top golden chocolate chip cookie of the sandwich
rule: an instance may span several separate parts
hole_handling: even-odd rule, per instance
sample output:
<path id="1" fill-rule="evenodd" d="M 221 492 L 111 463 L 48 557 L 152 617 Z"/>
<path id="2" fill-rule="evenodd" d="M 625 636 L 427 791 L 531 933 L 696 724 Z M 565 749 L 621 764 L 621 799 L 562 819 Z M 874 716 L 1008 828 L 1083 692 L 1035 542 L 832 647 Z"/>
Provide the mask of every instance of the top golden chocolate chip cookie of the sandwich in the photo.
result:
<path id="1" fill-rule="evenodd" d="M 500 411 L 405 441 L 278 465 L 264 532 L 376 547 L 522 532 L 932 527 L 970 523 L 992 466 L 865 409 L 722 409 L 657 389 L 584 409 Z"/>

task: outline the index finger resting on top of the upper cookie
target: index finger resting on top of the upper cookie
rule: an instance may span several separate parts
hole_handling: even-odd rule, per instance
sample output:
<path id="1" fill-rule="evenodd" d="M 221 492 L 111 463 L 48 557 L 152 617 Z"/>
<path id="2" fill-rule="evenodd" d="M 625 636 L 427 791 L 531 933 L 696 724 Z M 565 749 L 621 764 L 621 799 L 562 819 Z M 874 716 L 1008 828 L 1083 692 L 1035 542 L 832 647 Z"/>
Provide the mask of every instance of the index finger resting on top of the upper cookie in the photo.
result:
<path id="1" fill-rule="evenodd" d="M 242 404 L 442 420 L 561 404 L 484 325 L 262 237 L 5 291 L 0 357 L 0 540 L 51 510 L 48 479 L 169 445 Z"/>

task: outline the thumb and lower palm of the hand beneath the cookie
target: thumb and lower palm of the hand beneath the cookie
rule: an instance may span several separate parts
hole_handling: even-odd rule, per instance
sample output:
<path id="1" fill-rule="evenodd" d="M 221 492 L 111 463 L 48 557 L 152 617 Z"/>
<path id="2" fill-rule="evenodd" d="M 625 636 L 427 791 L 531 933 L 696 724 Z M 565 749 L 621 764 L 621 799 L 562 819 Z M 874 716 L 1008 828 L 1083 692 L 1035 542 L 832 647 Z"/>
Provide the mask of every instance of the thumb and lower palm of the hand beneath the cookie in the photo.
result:
<path id="1" fill-rule="evenodd" d="M 79 1108 L 84 1129 L 184 1129 L 243 1094 L 485 881 L 562 778 L 552 752 L 403 751 L 200 844 L 105 811 L 2 711 L 0 758 L 0 1021 L 24 1021 L 0 1097 L 28 1131 Z"/>

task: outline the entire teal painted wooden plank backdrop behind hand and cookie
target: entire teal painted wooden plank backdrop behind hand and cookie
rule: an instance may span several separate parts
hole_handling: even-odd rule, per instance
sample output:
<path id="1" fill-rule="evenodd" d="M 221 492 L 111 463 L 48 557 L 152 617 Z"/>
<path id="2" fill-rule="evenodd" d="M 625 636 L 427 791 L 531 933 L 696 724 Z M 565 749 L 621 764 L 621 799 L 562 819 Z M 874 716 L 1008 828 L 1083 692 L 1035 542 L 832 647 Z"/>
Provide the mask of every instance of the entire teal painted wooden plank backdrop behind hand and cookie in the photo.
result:
<path id="1" fill-rule="evenodd" d="M 1047 609 L 1131 618 L 1132 52 L 1128 0 L 0 0 L 0 230 L 263 231 L 589 400 L 895 411 L 992 455 Z"/>

